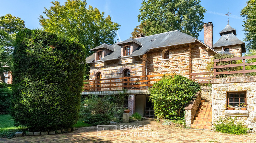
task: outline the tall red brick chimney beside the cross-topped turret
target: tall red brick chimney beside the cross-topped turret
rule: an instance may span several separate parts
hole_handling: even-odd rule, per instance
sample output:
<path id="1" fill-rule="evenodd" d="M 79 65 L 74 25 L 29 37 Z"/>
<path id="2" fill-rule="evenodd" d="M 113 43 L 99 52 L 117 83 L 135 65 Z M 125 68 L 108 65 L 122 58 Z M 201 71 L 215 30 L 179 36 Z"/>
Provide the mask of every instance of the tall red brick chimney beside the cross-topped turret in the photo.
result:
<path id="1" fill-rule="evenodd" d="M 213 37 L 212 37 L 212 22 L 203 24 L 203 43 L 212 48 L 213 45 Z"/>

